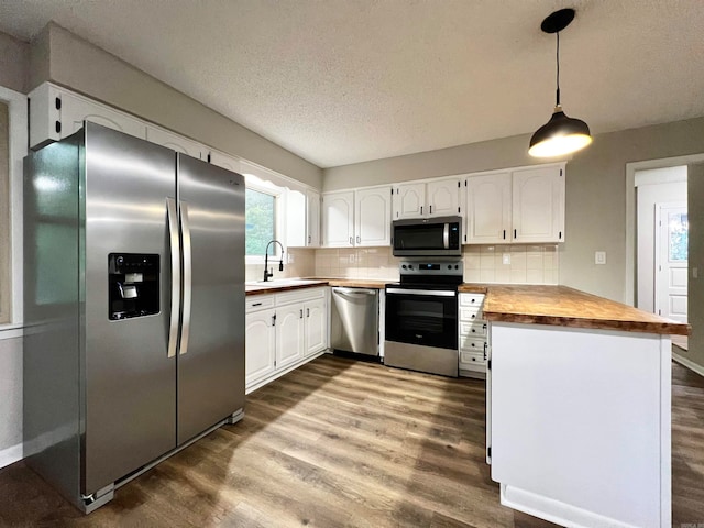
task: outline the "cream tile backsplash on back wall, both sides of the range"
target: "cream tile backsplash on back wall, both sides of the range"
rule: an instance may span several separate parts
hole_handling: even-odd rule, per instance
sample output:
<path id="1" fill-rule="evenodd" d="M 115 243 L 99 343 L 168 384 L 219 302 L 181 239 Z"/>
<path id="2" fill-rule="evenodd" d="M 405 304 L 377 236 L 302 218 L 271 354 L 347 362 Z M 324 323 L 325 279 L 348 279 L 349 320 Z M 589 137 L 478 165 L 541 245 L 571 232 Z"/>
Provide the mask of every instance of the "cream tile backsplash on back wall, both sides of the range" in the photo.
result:
<path id="1" fill-rule="evenodd" d="M 554 244 L 465 245 L 462 258 L 466 283 L 558 284 L 559 282 L 558 246 Z M 315 275 L 398 280 L 398 261 L 392 255 L 391 248 L 315 250 Z M 261 268 L 262 266 L 260 271 Z"/>

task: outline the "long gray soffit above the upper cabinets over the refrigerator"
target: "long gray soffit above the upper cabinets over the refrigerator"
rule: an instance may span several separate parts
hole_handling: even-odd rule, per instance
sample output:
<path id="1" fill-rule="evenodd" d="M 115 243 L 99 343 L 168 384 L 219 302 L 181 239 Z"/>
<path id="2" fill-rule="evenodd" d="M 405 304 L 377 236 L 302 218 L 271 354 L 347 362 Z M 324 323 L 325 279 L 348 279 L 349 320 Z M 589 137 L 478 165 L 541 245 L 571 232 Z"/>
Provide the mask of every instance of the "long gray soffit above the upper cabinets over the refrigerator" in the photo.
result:
<path id="1" fill-rule="evenodd" d="M 316 165 L 54 23 L 32 42 L 30 89 L 46 80 L 315 188 L 322 186 Z"/>

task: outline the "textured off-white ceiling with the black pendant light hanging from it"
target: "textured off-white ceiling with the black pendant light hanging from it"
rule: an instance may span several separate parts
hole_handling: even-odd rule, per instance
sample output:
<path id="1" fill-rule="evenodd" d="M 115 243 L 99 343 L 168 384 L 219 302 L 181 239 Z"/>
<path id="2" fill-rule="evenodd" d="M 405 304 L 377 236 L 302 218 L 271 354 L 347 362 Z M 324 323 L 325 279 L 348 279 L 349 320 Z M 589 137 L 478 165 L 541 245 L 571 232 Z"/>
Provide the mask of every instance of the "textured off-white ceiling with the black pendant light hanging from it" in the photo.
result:
<path id="1" fill-rule="evenodd" d="M 702 0 L 2 0 L 0 31 L 70 30 L 321 167 L 532 132 L 704 116 Z M 527 145 L 526 145 L 527 146 Z"/>

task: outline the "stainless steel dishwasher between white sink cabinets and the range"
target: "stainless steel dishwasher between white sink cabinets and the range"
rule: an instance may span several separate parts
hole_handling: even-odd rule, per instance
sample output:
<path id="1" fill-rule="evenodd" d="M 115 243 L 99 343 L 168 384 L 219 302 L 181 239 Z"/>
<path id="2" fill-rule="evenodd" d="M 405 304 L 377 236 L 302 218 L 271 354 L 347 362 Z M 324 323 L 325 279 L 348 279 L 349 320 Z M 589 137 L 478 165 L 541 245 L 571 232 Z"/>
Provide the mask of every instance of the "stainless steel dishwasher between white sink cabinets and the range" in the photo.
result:
<path id="1" fill-rule="evenodd" d="M 378 290 L 332 288 L 330 348 L 378 355 Z"/>

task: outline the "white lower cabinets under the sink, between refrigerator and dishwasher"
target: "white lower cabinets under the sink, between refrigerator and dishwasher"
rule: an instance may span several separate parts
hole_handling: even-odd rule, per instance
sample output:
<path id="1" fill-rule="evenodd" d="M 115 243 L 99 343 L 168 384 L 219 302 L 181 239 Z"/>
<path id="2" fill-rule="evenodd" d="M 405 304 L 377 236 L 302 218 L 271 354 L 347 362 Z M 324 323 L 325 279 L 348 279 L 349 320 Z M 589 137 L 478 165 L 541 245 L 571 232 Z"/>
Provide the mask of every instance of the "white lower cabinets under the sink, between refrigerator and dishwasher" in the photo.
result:
<path id="1" fill-rule="evenodd" d="M 328 348 L 327 288 L 246 300 L 245 385 L 251 392 Z"/>

